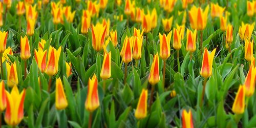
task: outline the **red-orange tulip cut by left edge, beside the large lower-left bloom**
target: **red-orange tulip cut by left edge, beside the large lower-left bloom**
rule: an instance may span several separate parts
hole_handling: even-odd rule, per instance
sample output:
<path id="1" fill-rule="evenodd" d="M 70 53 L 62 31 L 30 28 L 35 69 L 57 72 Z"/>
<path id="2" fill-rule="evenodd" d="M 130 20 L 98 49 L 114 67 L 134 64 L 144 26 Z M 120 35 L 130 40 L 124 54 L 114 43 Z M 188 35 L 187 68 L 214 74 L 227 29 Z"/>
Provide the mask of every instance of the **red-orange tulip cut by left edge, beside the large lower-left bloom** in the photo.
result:
<path id="1" fill-rule="evenodd" d="M 6 108 L 6 91 L 5 91 L 5 83 L 2 80 L 0 82 L 0 112 L 3 112 Z"/>

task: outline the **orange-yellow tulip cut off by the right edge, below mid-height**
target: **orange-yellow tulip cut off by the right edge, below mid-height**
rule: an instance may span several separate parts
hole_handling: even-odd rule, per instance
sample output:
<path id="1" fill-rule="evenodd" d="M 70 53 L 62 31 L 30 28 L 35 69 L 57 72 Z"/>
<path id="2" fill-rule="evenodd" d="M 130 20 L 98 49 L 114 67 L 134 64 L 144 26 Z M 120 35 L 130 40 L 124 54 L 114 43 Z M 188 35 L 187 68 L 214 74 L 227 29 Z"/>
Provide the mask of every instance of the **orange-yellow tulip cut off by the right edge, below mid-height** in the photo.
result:
<path id="1" fill-rule="evenodd" d="M 255 76 L 256 76 L 256 69 L 254 68 L 254 65 L 251 64 L 250 69 L 246 75 L 245 78 L 245 96 L 251 97 L 255 90 Z"/>

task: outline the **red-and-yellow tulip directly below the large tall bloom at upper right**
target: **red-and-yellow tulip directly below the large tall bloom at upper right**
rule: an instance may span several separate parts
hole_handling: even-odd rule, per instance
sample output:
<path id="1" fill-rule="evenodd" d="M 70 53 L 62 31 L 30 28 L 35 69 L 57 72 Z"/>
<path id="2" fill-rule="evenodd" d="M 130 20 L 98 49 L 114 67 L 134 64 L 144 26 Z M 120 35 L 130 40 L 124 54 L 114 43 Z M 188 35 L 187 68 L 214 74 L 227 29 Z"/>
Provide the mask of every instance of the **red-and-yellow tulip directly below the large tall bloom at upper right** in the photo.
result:
<path id="1" fill-rule="evenodd" d="M 189 52 L 195 52 L 197 49 L 196 47 L 197 30 L 195 30 L 193 33 L 192 31 L 187 29 L 186 35 L 187 35 L 186 50 Z"/>

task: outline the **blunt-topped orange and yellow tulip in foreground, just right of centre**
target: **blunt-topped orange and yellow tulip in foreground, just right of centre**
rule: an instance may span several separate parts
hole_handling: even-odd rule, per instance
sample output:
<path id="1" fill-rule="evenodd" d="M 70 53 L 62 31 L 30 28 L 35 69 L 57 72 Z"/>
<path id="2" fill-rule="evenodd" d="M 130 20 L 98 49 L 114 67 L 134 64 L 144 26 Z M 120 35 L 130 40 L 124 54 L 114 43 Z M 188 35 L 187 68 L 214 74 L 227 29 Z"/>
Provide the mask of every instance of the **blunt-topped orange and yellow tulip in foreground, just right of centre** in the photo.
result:
<path id="1" fill-rule="evenodd" d="M 146 117 L 147 113 L 147 90 L 142 89 L 140 94 L 137 109 L 135 111 L 135 118 L 143 119 Z"/>

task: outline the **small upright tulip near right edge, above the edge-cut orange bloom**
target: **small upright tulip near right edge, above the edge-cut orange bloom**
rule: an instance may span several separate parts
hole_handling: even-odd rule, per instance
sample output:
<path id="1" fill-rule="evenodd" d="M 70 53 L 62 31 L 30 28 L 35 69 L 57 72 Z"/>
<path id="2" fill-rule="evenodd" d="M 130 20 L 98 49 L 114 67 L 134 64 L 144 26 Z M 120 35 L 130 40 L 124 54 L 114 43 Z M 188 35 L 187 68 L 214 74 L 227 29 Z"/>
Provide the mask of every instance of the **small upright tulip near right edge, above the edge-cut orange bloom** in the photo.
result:
<path id="1" fill-rule="evenodd" d="M 247 61 L 251 61 L 252 57 L 253 57 L 253 40 L 249 41 L 246 39 L 245 46 L 244 46 L 244 58 Z"/>

